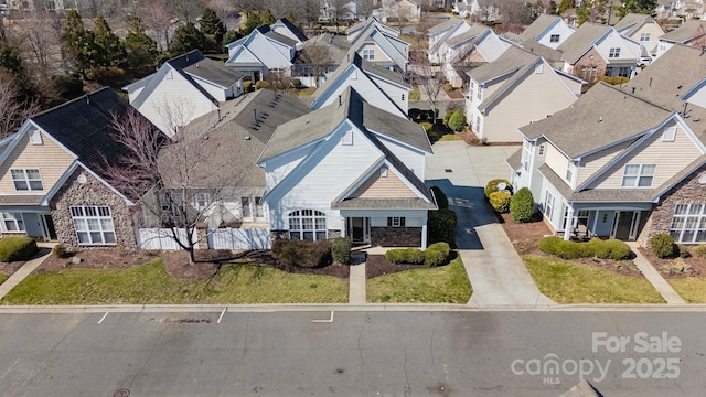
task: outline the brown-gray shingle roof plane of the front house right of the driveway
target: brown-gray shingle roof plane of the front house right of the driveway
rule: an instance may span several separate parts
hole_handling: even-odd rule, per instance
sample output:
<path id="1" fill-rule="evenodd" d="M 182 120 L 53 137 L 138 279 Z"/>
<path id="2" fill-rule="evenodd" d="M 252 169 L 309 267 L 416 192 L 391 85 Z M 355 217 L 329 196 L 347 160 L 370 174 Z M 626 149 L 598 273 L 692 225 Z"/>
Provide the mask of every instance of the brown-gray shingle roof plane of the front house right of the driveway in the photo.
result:
<path id="1" fill-rule="evenodd" d="M 671 110 L 599 83 L 568 108 L 520 128 L 528 138 L 546 137 L 577 158 L 638 137 L 664 121 Z"/>

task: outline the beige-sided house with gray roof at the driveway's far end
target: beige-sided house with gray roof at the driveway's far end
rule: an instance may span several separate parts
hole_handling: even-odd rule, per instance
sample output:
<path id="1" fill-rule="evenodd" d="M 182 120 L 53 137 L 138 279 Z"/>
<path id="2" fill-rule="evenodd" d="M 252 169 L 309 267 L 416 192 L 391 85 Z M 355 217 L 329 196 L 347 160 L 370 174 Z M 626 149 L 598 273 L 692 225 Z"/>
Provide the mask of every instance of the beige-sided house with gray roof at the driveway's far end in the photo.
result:
<path id="1" fill-rule="evenodd" d="M 521 142 L 517 128 L 570 106 L 586 83 L 512 46 L 470 72 L 466 119 L 483 142 Z"/>

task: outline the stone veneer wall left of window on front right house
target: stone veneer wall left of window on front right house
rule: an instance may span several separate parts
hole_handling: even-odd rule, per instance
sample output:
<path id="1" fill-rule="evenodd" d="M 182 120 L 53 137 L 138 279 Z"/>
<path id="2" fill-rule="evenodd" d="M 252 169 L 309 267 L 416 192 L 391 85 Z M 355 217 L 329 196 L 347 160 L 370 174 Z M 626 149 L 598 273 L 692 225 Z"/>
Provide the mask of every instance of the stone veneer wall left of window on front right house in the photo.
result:
<path id="1" fill-rule="evenodd" d="M 638 240 L 645 247 L 650 238 L 659 233 L 670 233 L 676 204 L 706 203 L 706 184 L 698 182 L 706 173 L 706 165 L 699 168 L 678 184 L 664 193 L 660 202 L 652 205 L 652 214 L 642 228 Z"/>

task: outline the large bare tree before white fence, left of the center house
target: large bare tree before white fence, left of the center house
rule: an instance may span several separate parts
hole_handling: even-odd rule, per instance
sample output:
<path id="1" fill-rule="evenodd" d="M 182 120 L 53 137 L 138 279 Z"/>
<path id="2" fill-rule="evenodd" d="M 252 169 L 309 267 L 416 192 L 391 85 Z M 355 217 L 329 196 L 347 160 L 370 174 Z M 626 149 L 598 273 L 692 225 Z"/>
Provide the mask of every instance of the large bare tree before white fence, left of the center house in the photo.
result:
<path id="1" fill-rule="evenodd" d="M 186 114 L 174 108 L 171 112 Z M 169 139 L 129 108 L 125 115 L 114 115 L 111 125 L 114 139 L 127 149 L 126 154 L 103 167 L 108 183 L 139 202 L 140 226 L 159 228 L 159 237 L 173 239 L 189 253 L 190 264 L 195 261 L 196 245 L 205 244 L 199 242 L 203 236 L 197 229 L 205 228 L 229 184 L 237 182 L 228 181 L 224 172 L 214 172 L 214 168 L 226 167 L 213 159 L 221 144 L 220 137 L 211 136 L 216 122 L 215 115 L 204 116 L 181 126 Z M 174 126 L 181 124 L 173 120 Z"/>

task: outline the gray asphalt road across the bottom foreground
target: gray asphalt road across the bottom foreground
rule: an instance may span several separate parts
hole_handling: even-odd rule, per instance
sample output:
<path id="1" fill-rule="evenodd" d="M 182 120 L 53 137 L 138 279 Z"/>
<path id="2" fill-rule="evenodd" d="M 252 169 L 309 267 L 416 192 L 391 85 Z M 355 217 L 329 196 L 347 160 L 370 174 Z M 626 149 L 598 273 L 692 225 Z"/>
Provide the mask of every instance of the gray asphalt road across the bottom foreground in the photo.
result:
<path id="1" fill-rule="evenodd" d="M 580 367 L 609 397 L 706 389 L 700 312 L 343 311 L 312 322 L 329 315 L 0 314 L 0 395 L 546 397 Z M 628 337 L 624 353 L 616 336 Z M 651 336 L 668 343 L 640 353 Z M 553 358 L 558 373 L 542 369 Z M 660 375 L 673 379 L 640 378 Z"/>

